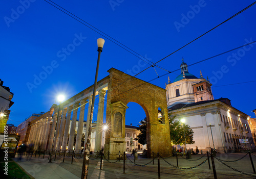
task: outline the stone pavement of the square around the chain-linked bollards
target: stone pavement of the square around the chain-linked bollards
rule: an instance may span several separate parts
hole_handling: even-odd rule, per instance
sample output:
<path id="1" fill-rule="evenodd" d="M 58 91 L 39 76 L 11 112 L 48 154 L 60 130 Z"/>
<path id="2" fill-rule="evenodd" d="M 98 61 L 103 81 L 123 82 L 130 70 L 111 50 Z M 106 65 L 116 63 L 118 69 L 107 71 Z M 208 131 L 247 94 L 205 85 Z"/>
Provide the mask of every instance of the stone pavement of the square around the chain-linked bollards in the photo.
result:
<path id="1" fill-rule="evenodd" d="M 223 161 L 233 161 L 242 158 L 246 154 L 220 154 L 217 155 L 218 159 Z M 130 155 L 128 155 L 130 156 Z M 196 160 L 201 158 L 203 155 L 192 156 L 192 160 Z M 252 156 L 252 160 L 254 165 L 256 165 L 256 155 Z M 27 171 L 32 177 L 36 179 L 41 178 L 80 178 L 81 177 L 81 168 L 82 168 L 82 158 L 77 159 L 74 158 L 73 164 L 71 164 L 71 157 L 66 157 L 65 162 L 63 163 L 63 156 L 56 158 L 56 161 L 52 161 L 53 163 L 48 163 L 48 156 L 45 159 L 40 159 L 37 157 L 27 158 L 23 157 L 22 161 L 18 162 L 18 158 L 15 158 L 14 161 L 22 167 L 25 171 Z M 79 157 L 78 157 L 79 158 Z M 108 162 L 106 159 L 103 160 L 102 170 L 100 170 L 100 159 L 90 160 L 89 166 L 89 177 L 88 178 L 158 178 L 158 165 L 157 159 L 154 160 L 150 164 L 144 165 L 150 161 L 151 159 L 138 159 L 136 160 L 136 164 L 134 162 L 133 157 L 129 157 L 131 160 L 127 159 L 125 161 L 125 174 L 123 173 L 123 161 L 120 160 L 116 163 L 116 160 L 110 160 Z M 93 158 L 91 158 L 93 159 Z M 189 168 L 194 167 L 207 159 L 207 156 L 202 157 L 197 161 L 190 161 L 183 159 L 181 156 L 178 157 L 179 167 L 181 168 Z M 166 162 L 165 162 L 166 161 Z M 160 158 L 160 176 L 161 178 L 214 178 L 214 174 L 212 171 L 212 165 L 210 160 L 210 167 L 208 166 L 208 161 L 201 164 L 197 168 L 192 169 L 180 169 L 175 168 L 169 164 L 177 166 L 176 157 L 170 157 L 168 159 Z M 222 161 L 222 162 L 223 162 Z M 169 164 L 168 164 L 168 163 Z M 215 159 L 216 172 L 218 178 L 256 178 L 256 174 L 253 174 L 252 165 L 249 159 L 249 155 L 245 156 L 243 159 L 236 162 L 223 162 L 228 166 L 242 171 L 244 173 L 250 174 L 242 174 L 238 171 L 234 171 L 231 168 L 228 168 L 221 162 Z"/>

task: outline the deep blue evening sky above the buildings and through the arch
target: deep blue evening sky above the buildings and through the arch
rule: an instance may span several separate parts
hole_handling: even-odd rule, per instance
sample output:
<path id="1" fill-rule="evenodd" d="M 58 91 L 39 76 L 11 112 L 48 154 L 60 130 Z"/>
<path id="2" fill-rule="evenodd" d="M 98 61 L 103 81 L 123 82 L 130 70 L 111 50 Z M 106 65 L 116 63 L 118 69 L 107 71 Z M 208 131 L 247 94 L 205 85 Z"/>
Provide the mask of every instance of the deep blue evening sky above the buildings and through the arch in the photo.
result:
<path id="1" fill-rule="evenodd" d="M 230 0 L 54 2 L 152 62 L 169 55 L 253 3 Z M 26 8 L 20 7 L 24 5 Z M 47 112 L 55 102 L 56 94 L 66 93 L 69 98 L 92 85 L 97 60 L 96 39 L 104 38 L 45 1 L 37 0 L 24 5 L 19 1 L 0 2 L 0 78 L 14 93 L 14 105 L 8 123 L 15 125 L 32 113 Z M 192 13 L 192 9 L 196 13 Z M 247 41 L 255 41 L 255 12 L 256 5 L 158 65 L 173 71 L 180 67 L 182 57 L 189 65 L 241 46 Z M 176 28 L 175 24 L 182 24 L 182 27 Z M 76 36 L 82 38 L 73 42 Z M 70 44 L 73 43 L 77 46 L 64 57 L 62 48 L 72 47 Z M 191 66 L 188 70 L 198 77 L 200 70 L 204 78 L 209 76 L 215 99 L 227 97 L 233 107 L 255 117 L 251 112 L 256 108 L 255 82 L 222 86 L 255 81 L 256 43 L 247 49 L 234 50 Z M 241 58 L 231 57 L 232 53 L 240 53 Z M 148 67 L 139 60 L 105 39 L 98 79 L 108 75 L 107 70 L 111 67 L 126 73 L 129 70 L 139 72 Z M 44 71 L 43 67 L 49 65 L 55 68 L 35 84 L 35 75 L 39 76 Z M 139 65 L 141 67 L 138 68 Z M 225 71 L 222 75 L 218 73 L 221 69 Z M 166 72 L 159 68 L 156 70 L 159 75 Z M 174 81 L 179 74 L 180 71 L 169 74 L 170 81 Z M 153 68 L 138 75 L 144 81 L 156 77 Z M 152 83 L 165 88 L 166 82 L 167 75 Z M 29 89 L 28 83 L 34 84 L 36 88 Z M 131 103 L 128 106 L 130 109 L 127 110 L 126 124 L 136 124 L 145 117 L 139 105 Z"/>

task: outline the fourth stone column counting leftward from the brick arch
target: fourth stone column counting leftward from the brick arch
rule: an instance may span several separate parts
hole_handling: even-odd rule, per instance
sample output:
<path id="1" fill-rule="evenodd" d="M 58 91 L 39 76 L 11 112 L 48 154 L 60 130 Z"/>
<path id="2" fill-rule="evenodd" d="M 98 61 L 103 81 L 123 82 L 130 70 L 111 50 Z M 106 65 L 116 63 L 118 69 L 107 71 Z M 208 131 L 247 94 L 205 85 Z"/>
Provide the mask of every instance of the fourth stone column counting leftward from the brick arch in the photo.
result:
<path id="1" fill-rule="evenodd" d="M 73 150 L 73 146 L 74 146 L 74 137 L 75 137 L 75 130 L 76 130 L 76 117 L 77 117 L 78 107 L 79 107 L 78 104 L 74 104 L 74 110 L 73 110 L 73 116 L 72 116 L 70 134 L 69 134 L 68 150 Z"/>

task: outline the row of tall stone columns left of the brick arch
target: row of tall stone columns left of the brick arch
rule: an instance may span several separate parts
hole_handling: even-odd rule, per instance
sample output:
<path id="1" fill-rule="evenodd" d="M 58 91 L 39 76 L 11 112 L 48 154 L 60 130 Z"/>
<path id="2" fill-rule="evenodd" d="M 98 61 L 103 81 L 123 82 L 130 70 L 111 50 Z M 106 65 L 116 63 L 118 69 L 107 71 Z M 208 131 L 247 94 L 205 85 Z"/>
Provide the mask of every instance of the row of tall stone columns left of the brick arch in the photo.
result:
<path id="1" fill-rule="evenodd" d="M 105 93 L 106 93 L 105 90 L 99 91 L 99 107 L 98 107 L 98 114 L 97 114 L 95 151 L 101 150 Z M 30 136 L 28 139 L 28 144 L 34 143 L 35 150 L 38 150 L 38 149 L 60 150 L 61 148 L 62 150 L 66 150 L 68 138 L 69 138 L 68 150 L 73 150 L 77 112 L 78 112 L 78 108 L 80 107 L 77 136 L 76 136 L 76 143 L 75 143 L 75 150 L 79 151 L 81 149 L 81 139 L 83 134 L 84 110 L 85 110 L 86 104 L 89 103 L 88 115 L 87 115 L 87 119 L 89 120 L 91 107 L 92 107 L 92 95 L 89 96 L 88 100 L 81 99 L 79 103 L 80 105 L 76 103 L 72 106 L 69 106 L 68 108 L 63 108 L 61 110 L 55 109 L 53 118 L 48 117 L 46 119 L 38 120 L 36 123 L 32 124 Z M 72 121 L 70 123 L 72 111 L 73 111 L 73 116 L 72 116 Z M 58 117 L 58 120 L 57 120 L 57 117 Z M 51 120 L 52 120 L 52 127 L 50 131 Z M 89 123 L 87 123 L 86 125 L 86 136 L 85 136 L 83 147 L 85 147 L 85 144 L 87 141 L 88 131 L 89 131 Z M 48 137 L 49 137 L 49 142 L 48 142 Z M 48 142 L 48 147 L 47 147 L 47 142 Z"/>

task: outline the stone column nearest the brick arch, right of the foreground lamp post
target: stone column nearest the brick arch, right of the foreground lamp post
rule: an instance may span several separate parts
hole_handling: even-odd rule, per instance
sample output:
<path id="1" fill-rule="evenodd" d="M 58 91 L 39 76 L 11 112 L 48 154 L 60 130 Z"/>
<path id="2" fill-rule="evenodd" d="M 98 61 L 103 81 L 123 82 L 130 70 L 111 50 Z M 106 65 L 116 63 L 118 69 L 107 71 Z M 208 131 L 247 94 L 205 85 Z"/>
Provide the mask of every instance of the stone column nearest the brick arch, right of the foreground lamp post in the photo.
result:
<path id="1" fill-rule="evenodd" d="M 105 94 L 106 94 L 105 90 L 101 89 L 99 91 L 99 108 L 98 108 L 98 114 L 97 114 L 96 139 L 95 139 L 94 151 L 101 150 Z"/>

